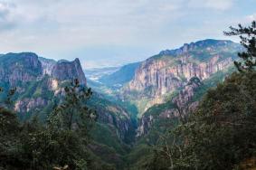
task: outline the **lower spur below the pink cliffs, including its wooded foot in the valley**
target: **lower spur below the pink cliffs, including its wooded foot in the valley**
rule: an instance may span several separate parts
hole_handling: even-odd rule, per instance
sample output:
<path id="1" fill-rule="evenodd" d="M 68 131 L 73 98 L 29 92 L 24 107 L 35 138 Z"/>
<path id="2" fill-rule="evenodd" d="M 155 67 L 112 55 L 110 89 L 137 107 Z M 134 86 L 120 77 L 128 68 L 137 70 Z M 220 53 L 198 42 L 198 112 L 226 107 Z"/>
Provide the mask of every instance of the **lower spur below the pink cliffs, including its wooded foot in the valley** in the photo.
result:
<path id="1" fill-rule="evenodd" d="M 163 138 L 169 141 L 172 138 L 170 131 L 179 125 L 180 118 L 184 118 L 180 116 L 193 112 L 206 91 L 215 88 L 233 71 L 235 68 L 231 66 L 214 73 L 206 80 L 198 81 L 193 78 L 186 84 L 185 89 L 179 90 L 165 103 L 147 109 L 138 122 L 137 142 L 127 155 L 130 169 L 136 170 L 147 164 L 148 160 L 153 161 L 155 150 L 152 146 L 161 146 Z"/>

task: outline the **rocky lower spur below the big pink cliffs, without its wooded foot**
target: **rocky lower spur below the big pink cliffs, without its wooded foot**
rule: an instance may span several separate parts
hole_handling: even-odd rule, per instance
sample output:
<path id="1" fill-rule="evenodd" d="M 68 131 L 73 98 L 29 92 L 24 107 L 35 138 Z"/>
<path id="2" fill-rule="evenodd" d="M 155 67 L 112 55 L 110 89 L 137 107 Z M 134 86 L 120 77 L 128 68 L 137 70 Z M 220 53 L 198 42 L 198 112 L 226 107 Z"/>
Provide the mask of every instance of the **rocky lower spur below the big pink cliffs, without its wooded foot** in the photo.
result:
<path id="1" fill-rule="evenodd" d="M 166 102 L 147 109 L 138 122 L 137 137 L 154 136 L 152 134 L 155 131 L 165 133 L 166 127 L 175 126 L 178 119 L 185 120 L 185 116 L 196 109 L 204 93 L 216 87 L 233 71 L 235 71 L 234 67 L 231 66 L 206 80 L 200 80 L 197 77 L 190 79 L 183 89 L 177 90 Z M 153 138 L 156 139 L 156 137 Z"/>

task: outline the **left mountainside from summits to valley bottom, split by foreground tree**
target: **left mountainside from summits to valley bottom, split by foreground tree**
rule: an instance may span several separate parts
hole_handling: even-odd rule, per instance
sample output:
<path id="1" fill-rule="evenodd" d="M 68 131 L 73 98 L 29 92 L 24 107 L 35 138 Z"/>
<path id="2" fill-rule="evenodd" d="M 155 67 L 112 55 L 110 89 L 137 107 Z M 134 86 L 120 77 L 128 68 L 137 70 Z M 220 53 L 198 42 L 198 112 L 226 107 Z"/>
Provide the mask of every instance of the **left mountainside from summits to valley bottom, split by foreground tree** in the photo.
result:
<path id="1" fill-rule="evenodd" d="M 38 116 L 44 121 L 60 99 L 63 88 L 72 80 L 79 79 L 86 86 L 86 78 L 78 59 L 74 61 L 52 61 L 39 58 L 33 52 L 8 53 L 0 57 L 1 86 L 16 88 L 14 109 L 19 118 L 28 120 Z M 126 109 L 93 93 L 88 103 L 99 115 L 91 132 L 90 149 L 99 160 L 120 166 L 123 155 L 128 152 L 135 128 Z M 104 159 L 115 157 L 114 160 Z"/>

